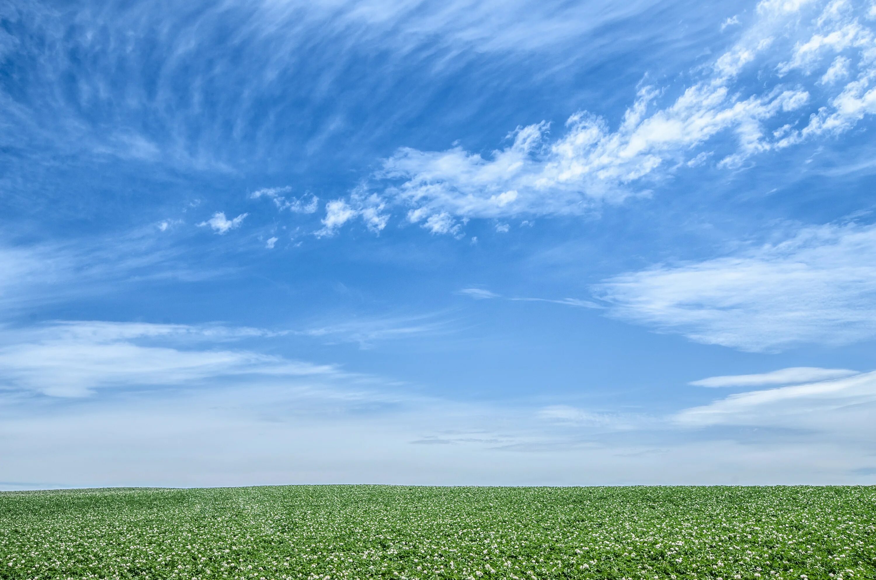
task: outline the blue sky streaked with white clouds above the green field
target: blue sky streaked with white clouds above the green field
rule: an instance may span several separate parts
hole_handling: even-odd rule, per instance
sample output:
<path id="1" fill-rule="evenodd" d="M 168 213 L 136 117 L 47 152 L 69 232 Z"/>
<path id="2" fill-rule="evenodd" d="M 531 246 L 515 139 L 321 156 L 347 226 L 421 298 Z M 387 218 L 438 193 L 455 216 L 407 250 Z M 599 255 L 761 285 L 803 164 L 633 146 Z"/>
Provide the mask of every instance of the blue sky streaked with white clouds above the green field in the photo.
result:
<path id="1" fill-rule="evenodd" d="M 876 484 L 876 3 L 0 5 L 0 489 Z"/>

